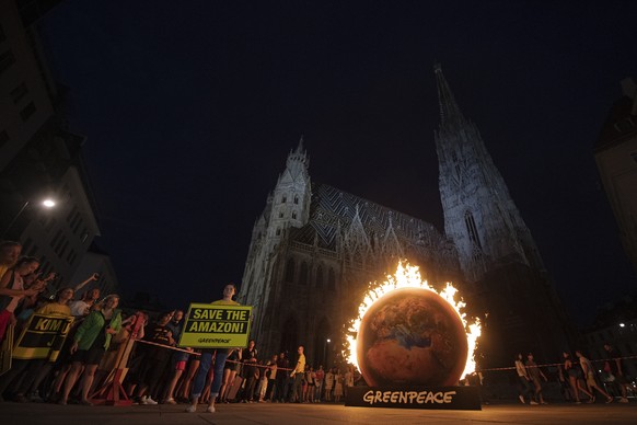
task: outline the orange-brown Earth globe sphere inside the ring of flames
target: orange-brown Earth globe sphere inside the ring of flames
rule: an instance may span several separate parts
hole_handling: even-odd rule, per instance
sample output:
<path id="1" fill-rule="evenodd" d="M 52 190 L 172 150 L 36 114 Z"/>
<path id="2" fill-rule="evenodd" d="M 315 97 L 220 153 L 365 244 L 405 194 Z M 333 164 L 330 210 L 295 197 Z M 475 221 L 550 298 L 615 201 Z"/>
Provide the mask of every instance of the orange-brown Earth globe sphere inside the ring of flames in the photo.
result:
<path id="1" fill-rule="evenodd" d="M 358 364 L 371 387 L 456 386 L 467 355 L 458 312 L 424 288 L 396 289 L 378 299 L 357 337 Z"/>

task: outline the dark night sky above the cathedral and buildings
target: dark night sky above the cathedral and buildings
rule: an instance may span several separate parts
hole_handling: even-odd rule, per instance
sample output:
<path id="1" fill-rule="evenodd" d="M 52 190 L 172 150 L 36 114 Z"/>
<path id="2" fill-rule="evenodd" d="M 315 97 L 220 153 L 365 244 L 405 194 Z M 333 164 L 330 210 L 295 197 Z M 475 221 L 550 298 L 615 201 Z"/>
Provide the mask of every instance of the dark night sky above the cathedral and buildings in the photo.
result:
<path id="1" fill-rule="evenodd" d="M 313 181 L 442 231 L 438 60 L 586 323 L 637 288 L 592 153 L 637 77 L 635 16 L 612 0 L 66 0 L 43 33 L 125 298 L 186 307 L 239 284 L 301 135 Z"/>

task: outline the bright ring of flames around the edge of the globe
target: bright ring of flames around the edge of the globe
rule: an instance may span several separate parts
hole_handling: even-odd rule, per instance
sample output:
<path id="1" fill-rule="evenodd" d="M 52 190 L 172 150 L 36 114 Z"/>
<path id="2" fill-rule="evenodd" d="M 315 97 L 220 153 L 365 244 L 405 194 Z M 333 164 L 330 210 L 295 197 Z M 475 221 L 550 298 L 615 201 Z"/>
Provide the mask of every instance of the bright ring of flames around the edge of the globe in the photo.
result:
<path id="1" fill-rule="evenodd" d="M 362 302 L 358 307 L 358 317 L 351 320 L 349 330 L 346 333 L 345 349 L 343 354 L 347 361 L 349 364 L 355 365 L 356 368 L 360 371 L 356 354 L 357 353 L 356 337 L 358 334 L 358 330 L 360 329 L 362 318 L 379 298 L 391 292 L 392 290 L 401 288 L 422 288 L 431 290 L 435 294 L 438 294 L 447 302 L 449 302 L 451 307 L 453 307 L 453 309 L 455 310 L 455 312 L 458 313 L 462 321 L 464 331 L 466 332 L 466 340 L 468 345 L 466 365 L 464 367 L 462 377 L 466 376 L 467 374 L 474 372 L 476 368 L 474 353 L 477 346 L 477 340 L 482 333 L 479 319 L 477 318 L 473 319 L 473 323 L 467 322 L 466 313 L 463 311 L 464 308 L 466 307 L 466 303 L 462 299 L 459 301 L 455 300 L 458 289 L 455 289 L 453 285 L 447 283 L 445 288 L 438 292 L 433 287 L 429 286 L 427 280 L 421 279 L 418 266 L 412 266 L 409 264 L 403 266 L 403 262 L 398 263 L 398 267 L 396 268 L 396 273 L 394 276 L 387 275 L 387 279 L 381 284 L 377 285 L 370 284 Z"/>

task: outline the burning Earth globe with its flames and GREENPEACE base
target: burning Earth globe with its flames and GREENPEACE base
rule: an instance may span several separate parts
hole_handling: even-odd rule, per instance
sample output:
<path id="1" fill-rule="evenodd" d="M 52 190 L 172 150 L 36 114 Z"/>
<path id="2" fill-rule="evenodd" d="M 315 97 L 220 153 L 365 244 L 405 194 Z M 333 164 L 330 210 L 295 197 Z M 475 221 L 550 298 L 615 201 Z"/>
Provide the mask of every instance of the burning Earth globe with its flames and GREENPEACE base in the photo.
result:
<path id="1" fill-rule="evenodd" d="M 436 391 L 430 391 L 430 398 L 414 397 L 415 402 L 409 405 L 398 403 L 402 405 L 393 406 L 417 406 L 431 400 L 430 406 L 438 409 L 476 409 L 475 400 L 478 400 L 479 409 L 479 399 L 471 391 L 458 394 L 460 399 L 471 401 L 468 404 L 454 403 L 454 398 L 448 395 L 450 387 L 458 386 L 462 377 L 475 370 L 473 355 L 480 334 L 479 321 L 467 322 L 463 312 L 466 305 L 455 300 L 456 294 L 451 284 L 437 292 L 420 278 L 418 267 L 402 263 L 386 282 L 370 284 L 358 317 L 352 320 L 346 335 L 345 349 L 346 358 L 359 369 L 366 382 L 375 388 L 371 392 L 377 395 L 372 397 L 369 391 L 358 391 L 362 400 L 383 400 L 381 394 L 392 392 L 382 391 L 387 388 L 427 388 L 440 389 L 439 392 L 445 395 L 436 398 Z M 422 391 L 404 392 L 416 394 Z M 452 392 L 456 395 L 455 391 Z M 357 398 L 352 393 L 349 405 L 361 405 Z M 398 395 L 395 399 L 401 400 Z M 387 395 L 386 400 L 391 401 L 392 397 Z M 381 404 L 392 406 L 391 402 Z M 367 405 L 379 404 L 368 402 Z"/>

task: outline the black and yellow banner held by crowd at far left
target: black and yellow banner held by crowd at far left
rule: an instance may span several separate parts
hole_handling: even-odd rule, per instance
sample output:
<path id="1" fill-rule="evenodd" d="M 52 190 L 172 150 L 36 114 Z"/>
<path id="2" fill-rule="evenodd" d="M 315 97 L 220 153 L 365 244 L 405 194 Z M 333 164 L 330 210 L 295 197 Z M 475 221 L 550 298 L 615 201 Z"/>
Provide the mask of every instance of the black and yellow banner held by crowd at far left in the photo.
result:
<path id="1" fill-rule="evenodd" d="M 55 361 L 73 323 L 72 317 L 34 313 L 13 347 L 13 358 Z"/>

